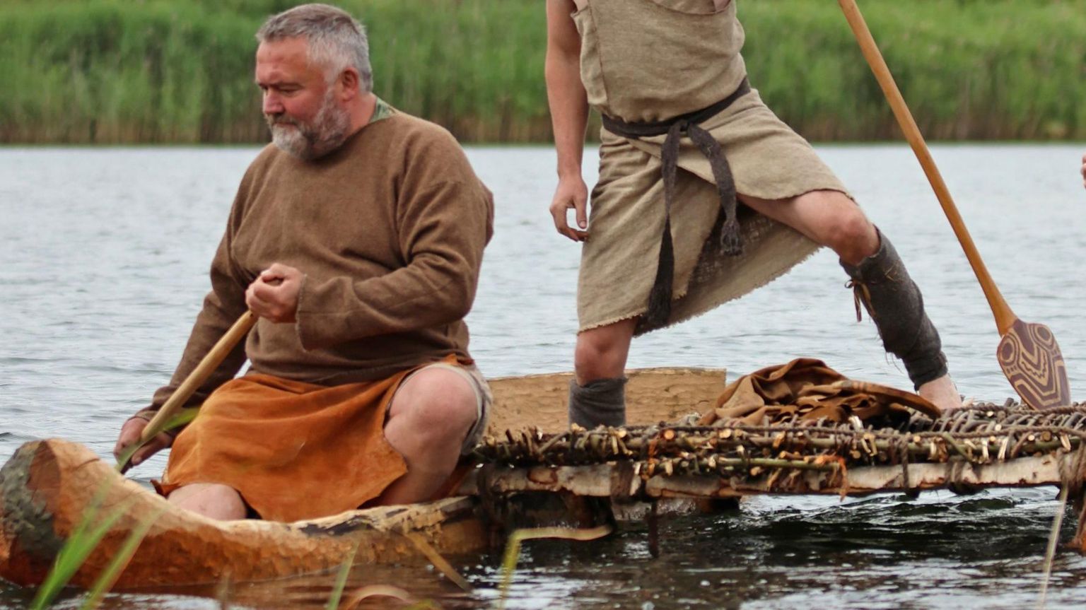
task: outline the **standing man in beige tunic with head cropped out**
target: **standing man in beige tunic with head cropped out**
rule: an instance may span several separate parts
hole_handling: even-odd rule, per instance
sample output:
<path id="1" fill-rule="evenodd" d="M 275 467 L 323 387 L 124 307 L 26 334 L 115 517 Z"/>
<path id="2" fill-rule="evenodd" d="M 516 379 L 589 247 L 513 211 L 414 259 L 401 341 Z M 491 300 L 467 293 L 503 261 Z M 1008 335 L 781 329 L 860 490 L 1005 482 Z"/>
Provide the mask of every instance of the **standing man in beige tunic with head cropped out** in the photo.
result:
<path id="1" fill-rule="evenodd" d="M 734 0 L 547 0 L 551 213 L 559 233 L 584 242 L 570 421 L 624 422 L 634 335 L 745 294 L 821 245 L 841 257 L 857 316 L 862 303 L 920 395 L 960 406 L 894 246 L 747 84 L 743 41 Z M 604 118 L 591 225 L 590 105 Z"/>

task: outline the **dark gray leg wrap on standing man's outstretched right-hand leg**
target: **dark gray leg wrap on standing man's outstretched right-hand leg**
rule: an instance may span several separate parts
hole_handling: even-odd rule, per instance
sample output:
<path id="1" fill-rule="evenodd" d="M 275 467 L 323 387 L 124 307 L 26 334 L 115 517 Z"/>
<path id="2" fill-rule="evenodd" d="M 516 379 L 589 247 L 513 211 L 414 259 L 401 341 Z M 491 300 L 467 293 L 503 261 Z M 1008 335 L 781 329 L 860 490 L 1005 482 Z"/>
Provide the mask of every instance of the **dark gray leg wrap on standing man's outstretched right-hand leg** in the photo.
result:
<path id="1" fill-rule="evenodd" d="M 879 252 L 853 266 L 841 266 L 851 278 L 849 285 L 856 296 L 856 318 L 860 319 L 860 303 L 867 308 L 879 329 L 883 346 L 905 363 L 914 387 L 947 373 L 946 356 L 935 326 L 924 313 L 924 298 L 909 278 L 901 257 L 881 232 Z"/>

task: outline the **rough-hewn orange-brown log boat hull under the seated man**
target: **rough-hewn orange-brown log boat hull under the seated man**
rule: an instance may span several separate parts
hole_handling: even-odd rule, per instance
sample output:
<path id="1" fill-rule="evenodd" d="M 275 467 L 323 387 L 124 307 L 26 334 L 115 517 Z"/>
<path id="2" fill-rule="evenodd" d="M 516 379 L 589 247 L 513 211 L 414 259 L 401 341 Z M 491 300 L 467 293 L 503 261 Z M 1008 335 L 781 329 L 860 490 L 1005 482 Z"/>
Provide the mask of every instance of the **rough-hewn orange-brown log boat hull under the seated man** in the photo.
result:
<path id="1" fill-rule="evenodd" d="M 473 498 L 463 496 L 308 522 L 215 521 L 171 509 L 83 445 L 49 440 L 23 445 L 0 470 L 0 575 L 20 585 L 40 584 L 100 493 L 99 514 L 126 508 L 73 579 L 75 586 L 90 586 L 128 532 L 160 511 L 117 587 L 214 583 L 224 576 L 258 581 L 327 570 L 342 563 L 356 544 L 358 562 L 417 556 L 413 535 L 439 552 L 475 550 L 485 539 Z"/>

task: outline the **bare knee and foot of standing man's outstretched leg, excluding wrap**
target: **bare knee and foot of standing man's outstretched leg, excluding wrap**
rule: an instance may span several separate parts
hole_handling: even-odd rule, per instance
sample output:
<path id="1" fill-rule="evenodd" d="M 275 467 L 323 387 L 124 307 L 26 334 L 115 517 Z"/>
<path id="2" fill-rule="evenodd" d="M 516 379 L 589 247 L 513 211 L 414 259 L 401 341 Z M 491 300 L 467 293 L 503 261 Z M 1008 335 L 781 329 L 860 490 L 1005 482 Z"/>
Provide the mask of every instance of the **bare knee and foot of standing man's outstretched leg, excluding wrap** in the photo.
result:
<path id="1" fill-rule="evenodd" d="M 874 225 L 844 193 L 811 191 L 779 201 L 746 195 L 740 195 L 740 199 L 759 213 L 830 247 L 849 265 L 859 265 L 879 250 L 879 233 Z M 961 406 L 961 397 L 949 374 L 921 384 L 917 392 L 943 410 Z"/>

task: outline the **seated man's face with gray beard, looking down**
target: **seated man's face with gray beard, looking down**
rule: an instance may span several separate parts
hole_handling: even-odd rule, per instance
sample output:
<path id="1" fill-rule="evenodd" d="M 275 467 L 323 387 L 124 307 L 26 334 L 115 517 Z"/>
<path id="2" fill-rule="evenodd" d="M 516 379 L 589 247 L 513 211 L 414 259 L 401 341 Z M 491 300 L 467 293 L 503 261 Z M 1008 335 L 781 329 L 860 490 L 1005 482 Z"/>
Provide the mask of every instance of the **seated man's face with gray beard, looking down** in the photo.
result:
<path id="1" fill-rule="evenodd" d="M 264 118 L 272 139 L 305 161 L 328 154 L 350 135 L 350 113 L 337 99 L 338 82 L 324 66 L 310 65 L 303 38 L 262 42 L 256 50 L 256 85 L 264 92 Z"/>

